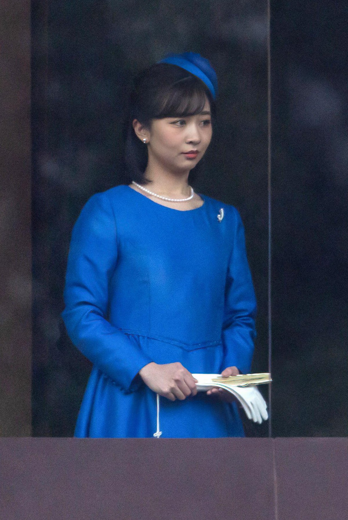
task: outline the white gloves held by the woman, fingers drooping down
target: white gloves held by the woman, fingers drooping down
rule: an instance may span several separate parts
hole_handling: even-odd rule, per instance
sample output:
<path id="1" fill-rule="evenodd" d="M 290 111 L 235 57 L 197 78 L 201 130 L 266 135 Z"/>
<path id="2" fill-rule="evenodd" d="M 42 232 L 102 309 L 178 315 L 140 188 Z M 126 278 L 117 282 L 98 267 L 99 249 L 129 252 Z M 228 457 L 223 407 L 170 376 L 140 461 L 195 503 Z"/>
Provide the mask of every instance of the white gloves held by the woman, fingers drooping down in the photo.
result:
<path id="1" fill-rule="evenodd" d="M 259 424 L 268 419 L 266 401 L 259 392 L 257 386 L 232 386 L 214 382 L 211 379 L 221 377 L 221 374 L 192 374 L 198 381 L 196 388 L 198 392 L 207 392 L 211 388 L 224 388 L 233 394 L 242 405 L 248 419 Z"/>

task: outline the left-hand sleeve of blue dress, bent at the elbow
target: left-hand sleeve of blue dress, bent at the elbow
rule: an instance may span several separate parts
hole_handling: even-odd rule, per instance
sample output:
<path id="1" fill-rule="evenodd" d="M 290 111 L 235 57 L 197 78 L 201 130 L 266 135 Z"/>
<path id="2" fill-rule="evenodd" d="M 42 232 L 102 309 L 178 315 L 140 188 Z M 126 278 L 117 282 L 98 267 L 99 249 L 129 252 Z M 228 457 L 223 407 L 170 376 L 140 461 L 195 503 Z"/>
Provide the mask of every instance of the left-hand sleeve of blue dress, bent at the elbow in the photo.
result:
<path id="1" fill-rule="evenodd" d="M 72 230 L 61 313 L 73 344 L 125 393 L 141 384 L 152 359 L 136 340 L 106 319 L 109 280 L 117 262 L 117 229 L 109 197 L 96 193 Z"/>

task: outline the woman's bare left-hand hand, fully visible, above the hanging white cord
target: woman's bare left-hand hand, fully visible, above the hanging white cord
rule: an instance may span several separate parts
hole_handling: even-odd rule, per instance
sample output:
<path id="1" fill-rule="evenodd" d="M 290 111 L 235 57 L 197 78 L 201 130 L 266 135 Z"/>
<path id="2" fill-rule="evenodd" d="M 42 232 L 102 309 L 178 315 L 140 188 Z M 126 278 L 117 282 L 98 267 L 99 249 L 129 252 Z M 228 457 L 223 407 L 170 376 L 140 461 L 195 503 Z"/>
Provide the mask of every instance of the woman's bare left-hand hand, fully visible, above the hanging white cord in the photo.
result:
<path id="1" fill-rule="evenodd" d="M 151 390 L 171 401 L 197 394 L 198 381 L 179 362 L 158 365 L 152 361 L 139 370 L 139 375 Z"/>

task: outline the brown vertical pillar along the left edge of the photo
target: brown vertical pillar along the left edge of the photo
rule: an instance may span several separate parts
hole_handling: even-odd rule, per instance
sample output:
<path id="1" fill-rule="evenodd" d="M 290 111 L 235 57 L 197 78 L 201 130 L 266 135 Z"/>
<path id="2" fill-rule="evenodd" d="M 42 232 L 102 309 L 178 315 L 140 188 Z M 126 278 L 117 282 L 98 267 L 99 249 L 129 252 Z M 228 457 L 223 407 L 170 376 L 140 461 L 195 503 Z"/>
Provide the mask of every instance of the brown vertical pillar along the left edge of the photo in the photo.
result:
<path id="1" fill-rule="evenodd" d="M 0 2 L 0 435 L 31 435 L 31 3 Z"/>

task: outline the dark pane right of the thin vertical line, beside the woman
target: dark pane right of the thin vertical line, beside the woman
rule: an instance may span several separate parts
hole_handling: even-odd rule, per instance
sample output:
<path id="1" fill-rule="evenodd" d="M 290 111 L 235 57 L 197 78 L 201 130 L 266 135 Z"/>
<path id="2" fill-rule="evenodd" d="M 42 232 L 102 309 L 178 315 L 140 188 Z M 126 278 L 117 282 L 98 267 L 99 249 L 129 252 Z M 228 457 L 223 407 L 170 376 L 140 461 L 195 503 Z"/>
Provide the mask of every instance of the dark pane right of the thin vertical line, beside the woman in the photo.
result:
<path id="1" fill-rule="evenodd" d="M 348 5 L 271 9 L 273 435 L 346 436 Z"/>

